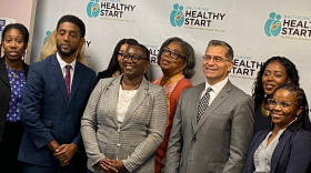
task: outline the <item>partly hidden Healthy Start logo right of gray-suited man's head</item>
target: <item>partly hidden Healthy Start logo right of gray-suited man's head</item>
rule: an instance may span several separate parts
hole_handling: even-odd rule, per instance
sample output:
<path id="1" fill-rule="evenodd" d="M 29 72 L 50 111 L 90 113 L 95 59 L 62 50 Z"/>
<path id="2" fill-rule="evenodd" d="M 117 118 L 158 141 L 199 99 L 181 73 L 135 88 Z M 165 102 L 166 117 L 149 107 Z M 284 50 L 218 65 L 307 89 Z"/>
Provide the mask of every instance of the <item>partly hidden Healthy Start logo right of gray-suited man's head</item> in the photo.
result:
<path id="1" fill-rule="evenodd" d="M 250 55 L 234 55 L 230 77 L 253 80 L 263 62 L 252 60 Z"/>

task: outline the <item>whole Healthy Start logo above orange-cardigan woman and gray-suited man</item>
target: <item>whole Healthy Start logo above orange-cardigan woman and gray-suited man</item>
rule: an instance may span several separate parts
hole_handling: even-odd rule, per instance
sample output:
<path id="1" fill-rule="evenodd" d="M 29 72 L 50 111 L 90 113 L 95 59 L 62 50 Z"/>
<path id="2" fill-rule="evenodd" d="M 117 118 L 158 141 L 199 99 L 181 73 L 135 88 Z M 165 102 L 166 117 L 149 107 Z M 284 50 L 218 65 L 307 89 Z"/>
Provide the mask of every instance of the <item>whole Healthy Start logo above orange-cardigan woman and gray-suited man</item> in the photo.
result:
<path id="1" fill-rule="evenodd" d="M 221 22 L 225 18 L 223 12 L 209 11 L 209 8 L 189 7 L 185 8 L 179 3 L 174 3 L 170 14 L 170 23 L 172 27 L 184 27 L 187 29 L 198 29 L 208 31 L 224 32 L 223 29 L 213 27 L 214 22 Z"/>

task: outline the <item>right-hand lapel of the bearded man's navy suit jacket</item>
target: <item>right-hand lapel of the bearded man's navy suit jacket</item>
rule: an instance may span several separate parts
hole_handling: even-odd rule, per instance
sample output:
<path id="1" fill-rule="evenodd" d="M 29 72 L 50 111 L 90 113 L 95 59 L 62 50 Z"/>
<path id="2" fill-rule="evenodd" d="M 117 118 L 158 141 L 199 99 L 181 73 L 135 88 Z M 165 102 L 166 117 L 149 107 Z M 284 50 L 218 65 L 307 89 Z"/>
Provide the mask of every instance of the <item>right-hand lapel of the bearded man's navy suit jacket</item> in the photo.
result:
<path id="1" fill-rule="evenodd" d="M 69 102 L 68 105 L 70 104 L 72 98 L 74 96 L 74 93 L 80 84 L 81 79 L 83 79 L 83 72 L 81 70 L 82 64 L 77 60 L 76 61 L 76 67 L 74 67 L 74 72 L 73 72 L 73 79 L 72 79 L 72 84 L 71 84 L 71 90 L 70 90 L 70 95 L 69 95 Z"/>

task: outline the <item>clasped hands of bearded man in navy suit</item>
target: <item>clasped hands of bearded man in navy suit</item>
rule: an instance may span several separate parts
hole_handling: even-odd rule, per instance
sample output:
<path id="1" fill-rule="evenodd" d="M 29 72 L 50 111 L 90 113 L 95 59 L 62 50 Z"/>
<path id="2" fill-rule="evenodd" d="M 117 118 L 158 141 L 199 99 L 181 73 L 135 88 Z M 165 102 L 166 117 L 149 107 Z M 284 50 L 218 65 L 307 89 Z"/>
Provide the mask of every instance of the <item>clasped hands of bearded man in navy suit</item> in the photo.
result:
<path id="1" fill-rule="evenodd" d="M 60 165 L 64 166 L 69 164 L 71 157 L 77 151 L 78 146 L 74 143 L 62 144 L 56 150 L 53 155 L 60 161 Z"/>

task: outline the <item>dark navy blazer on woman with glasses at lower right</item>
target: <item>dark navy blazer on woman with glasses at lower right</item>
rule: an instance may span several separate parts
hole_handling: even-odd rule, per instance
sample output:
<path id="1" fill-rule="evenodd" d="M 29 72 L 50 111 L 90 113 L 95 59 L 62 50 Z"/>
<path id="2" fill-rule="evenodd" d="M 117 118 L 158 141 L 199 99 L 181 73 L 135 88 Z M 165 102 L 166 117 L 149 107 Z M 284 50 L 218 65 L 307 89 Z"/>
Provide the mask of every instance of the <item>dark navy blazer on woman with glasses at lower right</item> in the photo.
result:
<path id="1" fill-rule="evenodd" d="M 251 143 L 242 173 L 253 173 L 253 154 L 270 130 L 258 132 Z M 284 131 L 272 154 L 270 173 L 309 173 L 311 163 L 311 133 L 302 129 Z"/>

